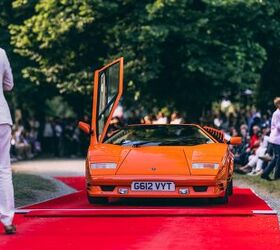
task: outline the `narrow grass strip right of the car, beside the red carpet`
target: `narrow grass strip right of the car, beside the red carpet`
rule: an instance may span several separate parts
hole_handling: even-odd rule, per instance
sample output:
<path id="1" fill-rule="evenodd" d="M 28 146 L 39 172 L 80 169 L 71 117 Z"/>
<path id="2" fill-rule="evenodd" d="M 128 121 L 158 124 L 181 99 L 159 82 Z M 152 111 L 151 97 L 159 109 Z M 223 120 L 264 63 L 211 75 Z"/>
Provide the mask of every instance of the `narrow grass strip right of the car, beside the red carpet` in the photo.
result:
<path id="1" fill-rule="evenodd" d="M 277 181 L 267 181 L 260 178 L 260 176 L 248 176 L 241 174 L 234 174 L 234 178 L 247 183 L 248 186 L 257 187 L 263 191 L 280 197 L 280 180 Z"/>

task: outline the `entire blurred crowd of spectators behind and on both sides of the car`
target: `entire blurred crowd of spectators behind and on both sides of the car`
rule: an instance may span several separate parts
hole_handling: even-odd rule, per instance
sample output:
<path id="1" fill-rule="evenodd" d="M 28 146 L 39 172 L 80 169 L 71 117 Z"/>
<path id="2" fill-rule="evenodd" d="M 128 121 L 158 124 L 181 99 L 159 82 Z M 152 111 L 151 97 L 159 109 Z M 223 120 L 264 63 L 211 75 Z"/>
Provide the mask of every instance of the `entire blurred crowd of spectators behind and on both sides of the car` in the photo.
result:
<path id="1" fill-rule="evenodd" d="M 272 158 L 270 143 L 271 111 L 261 113 L 254 107 L 233 108 L 222 102 L 216 112 L 207 112 L 199 123 L 223 130 L 230 136 L 241 136 L 242 144 L 233 148 L 235 171 L 241 174 L 261 175 Z M 89 122 L 85 116 L 83 121 Z M 121 114 L 111 120 L 108 135 L 125 124 L 182 124 L 187 121 L 179 112 L 167 116 L 159 111 L 143 117 L 132 112 L 126 118 Z M 11 155 L 14 160 L 31 159 L 38 155 L 49 157 L 79 157 L 86 154 L 89 138 L 81 133 L 75 119 L 48 117 L 40 123 L 35 118 L 18 121 L 13 127 Z"/>

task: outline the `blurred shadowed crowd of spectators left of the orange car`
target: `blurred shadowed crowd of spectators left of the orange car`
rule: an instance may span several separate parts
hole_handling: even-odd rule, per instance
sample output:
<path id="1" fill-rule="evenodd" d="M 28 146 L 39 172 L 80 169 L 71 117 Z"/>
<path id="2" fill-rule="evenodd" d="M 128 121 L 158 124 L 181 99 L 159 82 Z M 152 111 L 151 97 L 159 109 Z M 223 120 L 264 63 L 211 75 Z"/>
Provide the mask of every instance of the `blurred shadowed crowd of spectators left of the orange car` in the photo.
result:
<path id="1" fill-rule="evenodd" d="M 85 116 L 84 121 L 88 121 Z M 80 133 L 76 119 L 48 117 L 45 122 L 35 118 L 19 120 L 12 129 L 12 161 L 43 157 L 84 156 L 88 136 Z"/>

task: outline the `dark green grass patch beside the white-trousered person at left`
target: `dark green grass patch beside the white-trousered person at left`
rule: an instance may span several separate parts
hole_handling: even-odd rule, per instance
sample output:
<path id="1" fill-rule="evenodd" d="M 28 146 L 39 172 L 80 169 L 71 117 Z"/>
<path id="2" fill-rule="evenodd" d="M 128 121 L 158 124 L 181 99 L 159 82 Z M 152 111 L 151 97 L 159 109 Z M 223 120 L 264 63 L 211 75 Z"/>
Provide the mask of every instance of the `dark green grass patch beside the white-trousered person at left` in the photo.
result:
<path id="1" fill-rule="evenodd" d="M 52 181 L 30 174 L 13 174 L 16 207 L 34 203 L 46 193 L 56 191 Z"/>

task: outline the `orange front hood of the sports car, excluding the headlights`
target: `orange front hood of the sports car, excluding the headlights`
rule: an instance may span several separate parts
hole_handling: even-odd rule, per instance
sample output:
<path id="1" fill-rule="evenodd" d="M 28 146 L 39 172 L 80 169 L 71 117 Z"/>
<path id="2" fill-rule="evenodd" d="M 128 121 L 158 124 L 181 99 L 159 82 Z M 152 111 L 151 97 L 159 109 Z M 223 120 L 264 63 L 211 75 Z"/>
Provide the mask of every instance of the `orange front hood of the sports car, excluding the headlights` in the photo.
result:
<path id="1" fill-rule="evenodd" d="M 193 162 L 221 163 L 226 144 L 198 146 L 142 146 L 138 148 L 100 144 L 90 150 L 90 162 L 116 162 L 115 170 L 95 174 L 116 175 L 216 175 L 214 169 L 192 169 Z"/>

